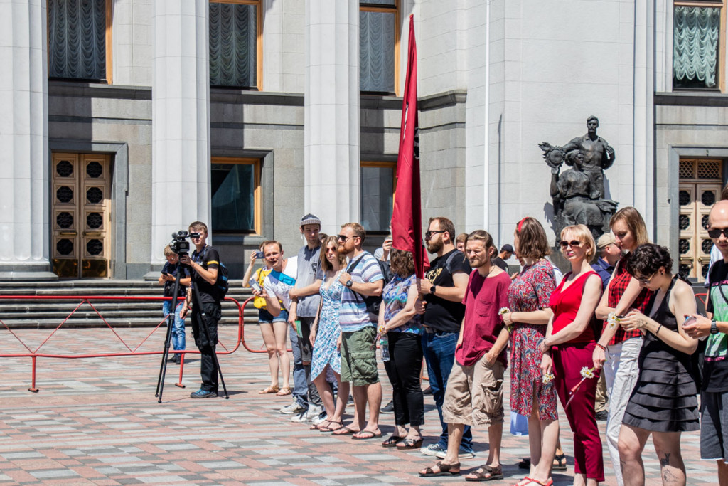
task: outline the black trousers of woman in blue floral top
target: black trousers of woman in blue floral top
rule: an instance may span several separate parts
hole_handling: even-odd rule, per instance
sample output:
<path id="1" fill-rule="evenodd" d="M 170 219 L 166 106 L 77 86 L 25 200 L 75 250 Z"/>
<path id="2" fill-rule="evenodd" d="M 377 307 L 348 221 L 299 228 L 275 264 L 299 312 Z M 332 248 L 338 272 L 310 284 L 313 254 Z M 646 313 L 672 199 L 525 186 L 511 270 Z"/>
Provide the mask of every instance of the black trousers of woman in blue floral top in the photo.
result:
<path id="1" fill-rule="evenodd" d="M 424 423 L 424 397 L 419 383 L 422 370 L 422 340 L 419 334 L 388 332 L 389 361 L 384 362 L 397 426 L 421 426 Z"/>

